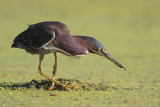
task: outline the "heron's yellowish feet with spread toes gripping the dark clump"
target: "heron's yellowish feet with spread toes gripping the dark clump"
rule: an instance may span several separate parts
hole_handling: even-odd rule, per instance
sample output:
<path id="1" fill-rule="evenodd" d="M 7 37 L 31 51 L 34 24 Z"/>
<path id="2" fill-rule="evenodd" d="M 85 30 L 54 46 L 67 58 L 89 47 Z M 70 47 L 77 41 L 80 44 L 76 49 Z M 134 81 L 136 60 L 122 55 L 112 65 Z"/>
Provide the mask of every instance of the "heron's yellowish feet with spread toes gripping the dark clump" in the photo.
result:
<path id="1" fill-rule="evenodd" d="M 69 91 L 69 90 L 71 90 L 71 89 L 72 89 L 72 90 L 73 90 L 73 89 L 82 90 L 81 87 L 71 86 L 71 85 L 68 85 L 68 83 L 69 83 L 69 81 L 66 82 L 65 84 L 62 84 L 62 83 L 58 82 L 57 80 L 55 80 L 55 79 L 53 78 L 52 84 L 51 84 L 51 86 L 50 86 L 50 88 L 49 88 L 48 90 L 53 90 L 55 87 L 60 87 L 60 88 L 62 88 L 62 89 L 64 89 L 64 90 L 67 90 L 67 91 Z"/>

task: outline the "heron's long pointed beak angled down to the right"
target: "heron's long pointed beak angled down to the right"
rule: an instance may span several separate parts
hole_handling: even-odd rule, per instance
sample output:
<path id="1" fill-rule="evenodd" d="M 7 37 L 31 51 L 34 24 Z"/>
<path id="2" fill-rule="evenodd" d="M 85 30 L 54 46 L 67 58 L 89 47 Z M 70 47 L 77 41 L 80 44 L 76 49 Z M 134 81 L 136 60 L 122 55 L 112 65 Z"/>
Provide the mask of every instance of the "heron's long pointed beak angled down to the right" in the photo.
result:
<path id="1" fill-rule="evenodd" d="M 122 64 L 120 64 L 120 62 L 116 60 L 110 53 L 104 51 L 102 48 L 99 48 L 98 51 L 101 53 L 101 56 L 106 57 L 107 59 L 112 61 L 114 64 L 119 66 L 120 68 L 123 68 L 124 70 L 126 70 L 126 68 Z"/>

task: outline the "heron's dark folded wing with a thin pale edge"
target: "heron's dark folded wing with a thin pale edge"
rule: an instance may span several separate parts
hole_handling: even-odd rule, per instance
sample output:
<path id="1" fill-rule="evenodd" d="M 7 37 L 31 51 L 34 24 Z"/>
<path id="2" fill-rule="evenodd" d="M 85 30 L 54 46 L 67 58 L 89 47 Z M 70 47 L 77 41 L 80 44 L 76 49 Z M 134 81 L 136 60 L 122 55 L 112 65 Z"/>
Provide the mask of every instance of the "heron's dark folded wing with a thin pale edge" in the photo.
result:
<path id="1" fill-rule="evenodd" d="M 28 28 L 20 33 L 13 42 L 21 43 L 26 48 L 40 48 L 55 38 L 54 31 Z"/>

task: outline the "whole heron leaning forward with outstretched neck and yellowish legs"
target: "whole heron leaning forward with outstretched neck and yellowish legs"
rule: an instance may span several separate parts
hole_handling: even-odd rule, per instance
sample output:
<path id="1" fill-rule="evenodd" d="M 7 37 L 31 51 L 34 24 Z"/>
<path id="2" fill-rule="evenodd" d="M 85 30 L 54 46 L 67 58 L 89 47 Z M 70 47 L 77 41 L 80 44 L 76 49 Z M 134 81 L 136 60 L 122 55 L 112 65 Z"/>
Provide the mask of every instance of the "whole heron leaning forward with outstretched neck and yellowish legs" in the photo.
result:
<path id="1" fill-rule="evenodd" d="M 28 29 L 20 33 L 13 41 L 12 48 L 21 48 L 31 54 L 39 54 L 38 72 L 52 81 L 49 90 L 58 84 L 63 88 L 69 87 L 55 80 L 57 71 L 58 53 L 65 54 L 73 58 L 82 58 L 88 53 L 104 56 L 120 68 L 125 67 L 120 64 L 104 46 L 96 39 L 89 36 L 71 36 L 68 27 L 57 21 L 41 22 L 29 25 Z M 48 76 L 42 70 L 42 61 L 45 54 L 54 53 L 55 64 L 53 66 L 53 76 Z M 71 86 L 70 86 L 71 87 Z"/>

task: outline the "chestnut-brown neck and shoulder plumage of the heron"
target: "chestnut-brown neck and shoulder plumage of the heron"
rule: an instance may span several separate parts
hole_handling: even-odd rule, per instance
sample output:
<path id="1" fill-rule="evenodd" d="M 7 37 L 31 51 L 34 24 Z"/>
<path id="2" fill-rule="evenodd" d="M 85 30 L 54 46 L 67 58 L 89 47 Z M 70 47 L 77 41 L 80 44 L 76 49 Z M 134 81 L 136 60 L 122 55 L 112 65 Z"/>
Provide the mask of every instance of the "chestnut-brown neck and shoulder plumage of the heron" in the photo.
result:
<path id="1" fill-rule="evenodd" d="M 54 26 L 55 38 L 52 44 L 71 55 L 83 55 L 88 51 L 87 42 L 79 37 L 71 36 L 68 27 L 64 24 Z"/>

